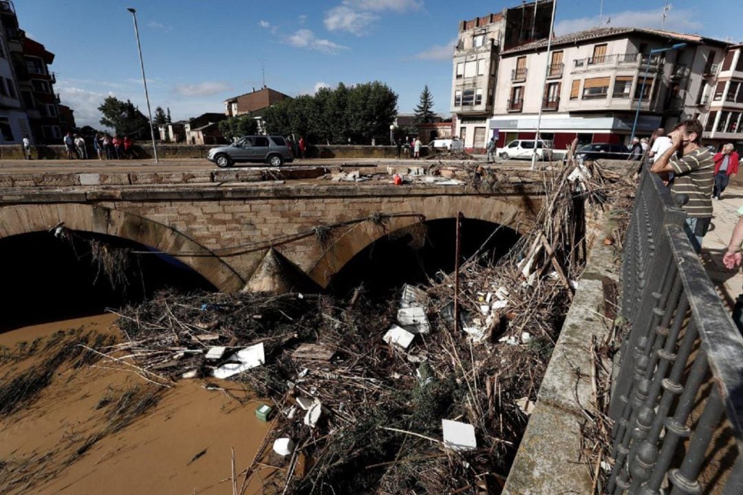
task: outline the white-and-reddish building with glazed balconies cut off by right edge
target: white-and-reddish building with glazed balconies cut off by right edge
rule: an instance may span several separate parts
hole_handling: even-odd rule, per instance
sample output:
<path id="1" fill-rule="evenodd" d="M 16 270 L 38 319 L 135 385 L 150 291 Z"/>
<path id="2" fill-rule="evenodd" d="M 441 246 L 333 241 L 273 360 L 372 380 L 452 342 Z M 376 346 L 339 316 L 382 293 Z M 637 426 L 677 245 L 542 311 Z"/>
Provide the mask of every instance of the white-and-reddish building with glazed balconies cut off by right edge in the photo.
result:
<path id="1" fill-rule="evenodd" d="M 704 143 L 743 148 L 743 45 L 707 60 L 696 104 L 706 114 Z"/>

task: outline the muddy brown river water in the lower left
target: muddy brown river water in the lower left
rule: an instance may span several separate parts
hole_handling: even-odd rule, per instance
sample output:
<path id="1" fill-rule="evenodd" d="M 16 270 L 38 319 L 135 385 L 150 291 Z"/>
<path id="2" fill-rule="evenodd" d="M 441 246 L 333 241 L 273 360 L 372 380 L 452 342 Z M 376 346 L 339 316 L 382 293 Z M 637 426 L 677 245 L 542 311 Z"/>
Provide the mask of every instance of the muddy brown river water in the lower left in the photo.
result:
<path id="1" fill-rule="evenodd" d="M 56 321 L 0 333 L 0 347 L 49 338 L 59 330 L 117 332 L 111 314 Z M 0 384 L 38 364 L 39 356 L 0 361 Z M 260 404 L 241 404 L 204 382 L 183 380 L 166 390 L 158 404 L 117 433 L 103 436 L 67 464 L 79 440 L 100 427 L 101 400 L 111 391 L 146 385 L 133 373 L 94 366 L 63 368 L 39 397 L 10 416 L 0 417 L 0 494 L 230 494 L 232 449 L 239 473 L 253 461 L 270 430 L 256 418 Z M 244 390 L 224 381 L 238 396 Z M 269 447 L 270 450 L 270 447 Z M 27 476 L 12 483 L 19 469 Z M 246 494 L 262 493 L 262 480 L 274 470 L 252 476 Z M 226 480 L 227 481 L 224 481 Z M 241 479 L 238 482 L 240 488 Z"/>

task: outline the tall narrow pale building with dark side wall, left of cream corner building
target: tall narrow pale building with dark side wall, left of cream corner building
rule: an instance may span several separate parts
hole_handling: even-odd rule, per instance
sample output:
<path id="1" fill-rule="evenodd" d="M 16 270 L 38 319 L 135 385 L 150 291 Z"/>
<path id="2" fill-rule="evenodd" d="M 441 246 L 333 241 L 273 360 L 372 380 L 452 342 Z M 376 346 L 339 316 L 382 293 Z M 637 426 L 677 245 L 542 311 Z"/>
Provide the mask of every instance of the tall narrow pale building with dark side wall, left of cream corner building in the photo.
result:
<path id="1" fill-rule="evenodd" d="M 468 150 L 481 150 L 493 115 L 499 53 L 510 47 L 546 39 L 551 0 L 504 9 L 459 22 L 458 42 L 452 59 L 452 134 Z"/>

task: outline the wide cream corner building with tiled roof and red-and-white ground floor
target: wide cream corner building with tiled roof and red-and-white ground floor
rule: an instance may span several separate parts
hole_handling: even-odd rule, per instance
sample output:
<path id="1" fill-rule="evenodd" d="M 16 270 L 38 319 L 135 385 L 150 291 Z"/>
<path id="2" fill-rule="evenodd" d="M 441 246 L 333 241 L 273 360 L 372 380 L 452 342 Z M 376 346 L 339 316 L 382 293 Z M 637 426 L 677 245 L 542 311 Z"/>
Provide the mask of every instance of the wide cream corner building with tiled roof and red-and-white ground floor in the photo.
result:
<path id="1" fill-rule="evenodd" d="M 554 140 L 556 149 L 575 137 L 581 144 L 626 143 L 638 104 L 639 136 L 681 119 L 704 118 L 697 95 L 728 45 L 697 35 L 603 27 L 555 37 L 549 55 L 546 39 L 504 50 L 490 133 L 497 134 L 499 146 L 533 139 L 540 107 L 539 134 Z"/>

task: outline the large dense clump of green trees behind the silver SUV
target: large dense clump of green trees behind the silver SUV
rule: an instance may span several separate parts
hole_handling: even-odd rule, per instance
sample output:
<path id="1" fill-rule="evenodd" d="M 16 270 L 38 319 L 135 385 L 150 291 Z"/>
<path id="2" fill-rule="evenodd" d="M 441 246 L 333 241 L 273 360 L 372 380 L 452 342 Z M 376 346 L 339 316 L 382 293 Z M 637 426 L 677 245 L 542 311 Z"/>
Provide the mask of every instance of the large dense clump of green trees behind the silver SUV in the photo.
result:
<path id="1" fill-rule="evenodd" d="M 389 136 L 397 115 L 398 95 L 381 82 L 321 88 L 315 96 L 283 99 L 263 118 L 269 134 L 304 136 L 309 142 L 369 143 Z"/>

